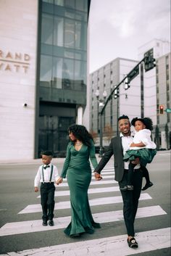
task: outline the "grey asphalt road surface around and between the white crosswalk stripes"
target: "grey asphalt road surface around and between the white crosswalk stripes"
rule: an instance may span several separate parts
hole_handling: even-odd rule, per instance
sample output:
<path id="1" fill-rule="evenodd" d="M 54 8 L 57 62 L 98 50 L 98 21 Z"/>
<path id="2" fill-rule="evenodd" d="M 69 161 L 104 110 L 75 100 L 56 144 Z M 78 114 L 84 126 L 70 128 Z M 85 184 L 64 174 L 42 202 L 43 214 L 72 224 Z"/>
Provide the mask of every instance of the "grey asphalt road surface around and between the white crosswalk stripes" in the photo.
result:
<path id="1" fill-rule="evenodd" d="M 57 165 L 57 168 L 60 171 L 62 170 L 62 165 L 64 160 L 54 159 L 54 164 Z M 19 214 L 21 210 L 24 210 L 28 205 L 38 205 L 40 204 L 40 198 L 38 194 L 34 192 L 33 180 L 36 176 L 36 171 L 38 166 L 41 165 L 41 160 L 33 160 L 31 162 L 25 163 L 9 163 L 9 164 L 0 164 L 0 231 L 3 231 L 3 227 L 7 223 L 17 223 L 15 231 L 22 228 L 23 221 L 26 220 L 41 220 L 41 212 L 26 212 Z M 112 171 L 113 160 L 110 160 L 108 163 L 109 168 Z M 146 231 L 156 231 L 162 228 L 170 227 L 170 152 L 162 151 L 157 152 L 157 156 L 154 157 L 154 161 L 151 165 L 148 165 L 150 172 L 151 181 L 154 183 L 150 189 L 144 191 L 142 194 L 147 194 L 151 199 L 143 199 L 139 202 L 139 207 L 156 207 L 158 206 L 164 211 L 162 215 L 155 215 L 151 210 L 151 215 L 149 217 L 138 218 L 135 220 L 135 232 L 146 232 Z M 103 172 L 102 172 L 103 175 Z M 105 181 L 112 181 L 114 178 L 105 179 Z M 144 182 L 144 181 L 143 181 Z M 101 184 L 97 183 L 96 185 L 91 185 L 90 189 L 96 188 L 117 188 L 117 183 L 107 183 Z M 57 187 L 57 191 L 66 191 L 67 187 Z M 101 190 L 102 191 L 102 190 Z M 101 192 L 89 194 L 89 199 L 101 199 L 106 197 L 120 197 L 120 191 Z M 67 202 L 70 200 L 69 195 L 63 195 L 56 197 L 56 204 L 61 202 Z M 103 200 L 103 199 L 102 199 Z M 106 200 L 106 199 L 105 199 Z M 120 211 L 122 210 L 122 202 L 114 202 L 106 205 L 106 202 L 98 203 L 91 207 L 93 214 L 99 214 L 101 212 L 109 211 Z M 70 216 L 69 208 L 61 208 L 54 211 L 55 218 L 63 218 Z M 53 247 L 59 244 L 65 244 L 66 247 L 68 244 L 75 244 L 78 241 L 92 241 L 93 239 L 107 239 L 111 236 L 124 236 L 125 225 L 123 220 L 120 221 L 108 221 L 106 223 L 101 223 L 101 228 L 96 230 L 93 235 L 85 234 L 79 239 L 70 239 L 63 233 L 64 228 L 51 229 L 43 231 L 36 231 L 24 234 L 11 234 L 3 235 L 3 232 L 0 236 L 0 254 L 6 254 L 7 252 L 20 252 L 27 249 L 41 248 L 41 247 Z M 14 233 L 15 233 L 14 231 Z M 162 234 L 161 234 L 162 235 Z M 155 232 L 154 232 L 154 236 Z M 126 239 L 126 236 L 125 236 Z M 94 240 L 94 241 L 95 241 Z M 126 249 L 128 245 L 125 245 Z M 129 253 L 129 252 L 128 252 Z M 170 246 L 164 248 L 161 244 L 161 248 L 154 247 L 142 252 L 137 251 L 134 255 L 146 255 L 146 256 L 170 256 Z M 19 255 L 19 254 L 18 254 Z M 29 254 L 23 254 L 29 255 Z M 31 254 L 30 254 L 31 255 Z M 42 254 L 43 255 L 43 254 Z M 49 254 L 44 254 L 49 255 Z M 53 255 L 62 255 L 62 254 L 53 254 Z M 65 255 L 65 254 L 64 254 Z M 66 254 L 67 255 L 67 254 Z M 72 255 L 72 254 L 70 254 Z M 76 255 L 76 254 L 75 254 Z M 92 254 L 95 255 L 95 254 Z M 101 254 L 102 255 L 102 254 Z M 107 252 L 104 250 L 104 256 L 108 256 Z M 122 255 L 122 254 L 120 254 Z M 132 255 L 130 254 L 123 255 Z M 80 255 L 79 255 L 80 256 Z M 111 255 L 112 256 L 112 255 Z M 115 256 L 119 256 L 115 254 Z"/>

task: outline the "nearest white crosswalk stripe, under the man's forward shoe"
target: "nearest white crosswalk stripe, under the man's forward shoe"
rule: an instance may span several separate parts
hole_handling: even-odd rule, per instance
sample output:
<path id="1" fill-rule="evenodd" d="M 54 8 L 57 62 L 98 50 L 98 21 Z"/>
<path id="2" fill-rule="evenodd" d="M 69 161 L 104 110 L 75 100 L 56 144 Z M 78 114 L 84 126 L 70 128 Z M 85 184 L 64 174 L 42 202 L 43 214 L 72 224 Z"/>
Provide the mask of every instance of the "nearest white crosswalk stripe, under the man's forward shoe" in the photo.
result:
<path id="1" fill-rule="evenodd" d="M 131 249 L 127 244 L 127 235 L 110 236 L 103 239 L 77 241 L 70 244 L 59 244 L 38 249 L 27 249 L 21 252 L 8 252 L 8 256 L 128 256 L 142 252 L 170 247 L 170 228 L 161 228 L 139 232 L 135 239 L 139 247 Z"/>

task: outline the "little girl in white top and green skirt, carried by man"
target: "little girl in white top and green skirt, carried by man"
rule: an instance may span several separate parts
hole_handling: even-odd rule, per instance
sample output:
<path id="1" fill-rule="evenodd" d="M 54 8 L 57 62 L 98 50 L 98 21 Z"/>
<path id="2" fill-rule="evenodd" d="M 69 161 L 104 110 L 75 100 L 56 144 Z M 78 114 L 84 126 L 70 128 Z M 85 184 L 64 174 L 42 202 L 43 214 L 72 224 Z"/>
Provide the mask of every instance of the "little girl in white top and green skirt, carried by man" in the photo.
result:
<path id="1" fill-rule="evenodd" d="M 153 183 L 149 179 L 149 171 L 146 169 L 146 164 L 150 163 L 153 160 L 154 155 L 157 154 L 157 145 L 151 141 L 153 123 L 149 117 L 135 117 L 131 121 L 131 125 L 135 127 L 135 136 L 133 138 L 133 143 L 130 144 L 130 150 L 128 150 L 123 157 L 124 161 L 130 161 L 128 170 L 128 184 L 120 189 L 122 191 L 133 190 L 132 181 L 133 168 L 135 167 L 135 164 L 133 164 L 132 161 L 135 160 L 135 158 L 139 158 L 141 169 L 143 170 L 143 176 L 146 178 L 146 185 L 142 190 L 146 190 L 150 186 L 153 186 Z"/>

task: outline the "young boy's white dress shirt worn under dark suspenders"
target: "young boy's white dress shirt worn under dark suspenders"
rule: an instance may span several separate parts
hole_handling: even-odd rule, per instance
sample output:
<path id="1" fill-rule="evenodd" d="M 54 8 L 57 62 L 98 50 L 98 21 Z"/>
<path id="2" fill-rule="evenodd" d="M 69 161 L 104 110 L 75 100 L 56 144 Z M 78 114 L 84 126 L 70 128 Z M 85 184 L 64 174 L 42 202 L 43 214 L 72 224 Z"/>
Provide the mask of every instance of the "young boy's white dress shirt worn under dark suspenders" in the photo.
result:
<path id="1" fill-rule="evenodd" d="M 43 182 L 42 166 L 45 167 L 46 165 L 41 165 L 38 168 L 38 172 L 36 174 L 35 181 L 34 181 L 34 186 L 38 186 L 39 182 Z M 47 183 L 47 182 L 49 183 L 50 177 L 51 177 L 51 182 L 57 181 L 59 178 L 57 167 L 55 165 L 53 165 L 53 166 L 54 166 L 54 170 L 53 170 L 52 176 L 51 176 L 51 163 L 49 164 L 48 168 L 43 169 L 45 183 Z"/>

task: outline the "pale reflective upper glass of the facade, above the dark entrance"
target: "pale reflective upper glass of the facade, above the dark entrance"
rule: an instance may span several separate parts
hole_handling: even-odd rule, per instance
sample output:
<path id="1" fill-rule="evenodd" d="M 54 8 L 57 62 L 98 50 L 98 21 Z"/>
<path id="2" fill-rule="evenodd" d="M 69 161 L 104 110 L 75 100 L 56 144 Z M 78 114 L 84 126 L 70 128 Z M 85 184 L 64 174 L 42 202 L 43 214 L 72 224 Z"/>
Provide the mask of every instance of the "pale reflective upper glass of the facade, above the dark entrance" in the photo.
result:
<path id="1" fill-rule="evenodd" d="M 68 90 L 55 102 L 66 102 L 70 91 L 86 91 L 87 20 L 88 1 L 42 1 L 40 86 Z"/>

